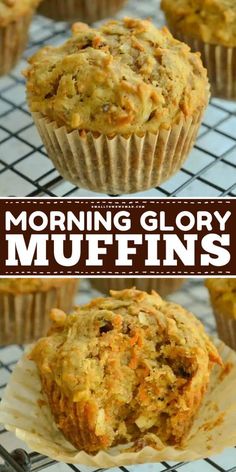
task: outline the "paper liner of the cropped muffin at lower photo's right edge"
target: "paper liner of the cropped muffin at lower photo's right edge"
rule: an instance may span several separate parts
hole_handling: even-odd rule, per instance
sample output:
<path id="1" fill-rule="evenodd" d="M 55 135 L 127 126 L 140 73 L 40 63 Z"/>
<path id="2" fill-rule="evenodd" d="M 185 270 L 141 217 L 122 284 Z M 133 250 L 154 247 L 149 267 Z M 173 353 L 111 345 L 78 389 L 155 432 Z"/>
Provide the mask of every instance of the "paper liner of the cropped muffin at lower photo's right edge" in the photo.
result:
<path id="1" fill-rule="evenodd" d="M 236 320 L 224 315 L 224 313 L 220 313 L 216 309 L 214 315 L 220 339 L 236 350 Z"/>

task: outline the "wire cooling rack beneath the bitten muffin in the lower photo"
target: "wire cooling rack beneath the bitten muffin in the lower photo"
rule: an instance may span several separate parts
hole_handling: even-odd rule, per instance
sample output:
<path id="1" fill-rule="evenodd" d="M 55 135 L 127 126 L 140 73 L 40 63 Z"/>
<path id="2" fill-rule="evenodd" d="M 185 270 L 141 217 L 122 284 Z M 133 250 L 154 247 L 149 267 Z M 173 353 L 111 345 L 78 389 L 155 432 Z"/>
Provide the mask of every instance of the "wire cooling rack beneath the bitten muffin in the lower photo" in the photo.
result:
<path id="1" fill-rule="evenodd" d="M 80 304 L 86 303 L 98 292 L 90 288 L 89 282 L 81 281 L 80 292 L 78 294 L 77 302 Z M 203 281 L 189 280 L 182 288 L 170 296 L 176 303 L 180 303 L 186 308 L 193 311 L 204 323 L 208 332 L 215 333 L 215 322 L 212 316 L 212 310 L 208 300 L 207 290 L 203 285 Z M 19 357 L 22 355 L 22 346 L 7 346 L 0 348 L 0 398 L 3 394 L 9 376 L 14 368 Z M 5 458 L 6 462 L 11 460 L 9 452 L 15 448 L 24 448 L 31 460 L 31 471 L 36 472 L 46 469 L 48 472 L 69 472 L 74 470 L 76 472 L 90 472 L 92 469 L 85 466 L 74 466 L 70 464 L 58 464 L 49 458 L 43 457 L 35 452 L 30 452 L 21 441 L 15 438 L 12 433 L 7 432 L 0 426 L 0 471 L 1 471 L 1 457 Z M 204 460 L 191 463 L 169 463 L 162 462 L 159 464 L 145 464 L 140 466 L 127 466 L 115 468 L 114 472 L 236 472 L 236 448 L 225 450 L 222 454 L 206 458 Z M 1 472 L 23 472 L 23 469 L 13 467 L 10 470 L 5 468 Z M 99 472 L 97 469 L 95 472 Z"/>

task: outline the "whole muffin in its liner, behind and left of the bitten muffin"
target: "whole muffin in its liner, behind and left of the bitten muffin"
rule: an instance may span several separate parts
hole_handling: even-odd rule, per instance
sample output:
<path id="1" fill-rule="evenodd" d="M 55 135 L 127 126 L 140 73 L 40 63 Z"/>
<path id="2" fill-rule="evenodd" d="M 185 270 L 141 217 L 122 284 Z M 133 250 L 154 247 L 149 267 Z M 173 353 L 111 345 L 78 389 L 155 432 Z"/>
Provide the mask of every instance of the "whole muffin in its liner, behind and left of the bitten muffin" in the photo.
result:
<path id="1" fill-rule="evenodd" d="M 0 345 L 24 344 L 47 333 L 53 307 L 70 311 L 76 279 L 1 279 Z"/>

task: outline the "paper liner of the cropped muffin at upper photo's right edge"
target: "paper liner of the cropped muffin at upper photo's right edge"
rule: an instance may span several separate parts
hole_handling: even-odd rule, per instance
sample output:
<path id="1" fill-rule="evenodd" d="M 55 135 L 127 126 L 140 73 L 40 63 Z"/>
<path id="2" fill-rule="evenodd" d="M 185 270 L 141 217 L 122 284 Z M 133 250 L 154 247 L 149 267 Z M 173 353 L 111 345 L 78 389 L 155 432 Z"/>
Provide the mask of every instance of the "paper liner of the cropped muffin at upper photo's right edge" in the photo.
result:
<path id="1" fill-rule="evenodd" d="M 204 43 L 200 39 L 190 38 L 171 27 L 174 37 L 187 43 L 193 51 L 201 53 L 207 68 L 214 97 L 228 100 L 236 99 L 236 47 L 226 47 Z"/>

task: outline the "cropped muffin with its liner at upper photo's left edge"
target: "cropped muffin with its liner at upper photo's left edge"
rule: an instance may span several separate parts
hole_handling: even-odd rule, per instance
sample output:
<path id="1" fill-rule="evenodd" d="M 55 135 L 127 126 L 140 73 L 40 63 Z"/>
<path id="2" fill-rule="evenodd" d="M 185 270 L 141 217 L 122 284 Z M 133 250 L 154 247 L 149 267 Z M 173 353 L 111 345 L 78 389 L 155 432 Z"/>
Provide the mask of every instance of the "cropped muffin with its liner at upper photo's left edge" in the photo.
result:
<path id="1" fill-rule="evenodd" d="M 0 0 L 0 76 L 20 59 L 39 0 Z"/>

